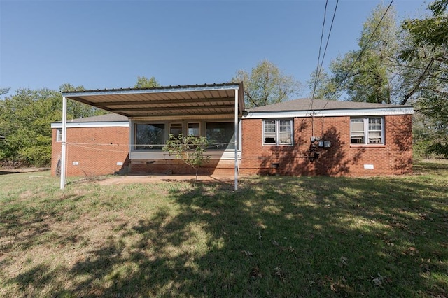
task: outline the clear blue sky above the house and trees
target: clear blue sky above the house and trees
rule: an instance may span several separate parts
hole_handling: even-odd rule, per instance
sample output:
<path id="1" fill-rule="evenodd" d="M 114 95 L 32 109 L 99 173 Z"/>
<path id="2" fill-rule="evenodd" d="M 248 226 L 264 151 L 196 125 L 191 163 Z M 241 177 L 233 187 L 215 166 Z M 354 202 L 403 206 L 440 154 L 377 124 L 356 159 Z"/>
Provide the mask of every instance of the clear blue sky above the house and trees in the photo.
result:
<path id="1" fill-rule="evenodd" d="M 380 2 L 339 0 L 324 65 L 357 48 Z M 427 5 L 393 2 L 398 20 L 423 15 Z M 324 8 L 324 0 L 0 0 L 0 87 L 120 88 L 137 76 L 161 85 L 223 83 L 262 59 L 305 83 L 316 69 Z"/>

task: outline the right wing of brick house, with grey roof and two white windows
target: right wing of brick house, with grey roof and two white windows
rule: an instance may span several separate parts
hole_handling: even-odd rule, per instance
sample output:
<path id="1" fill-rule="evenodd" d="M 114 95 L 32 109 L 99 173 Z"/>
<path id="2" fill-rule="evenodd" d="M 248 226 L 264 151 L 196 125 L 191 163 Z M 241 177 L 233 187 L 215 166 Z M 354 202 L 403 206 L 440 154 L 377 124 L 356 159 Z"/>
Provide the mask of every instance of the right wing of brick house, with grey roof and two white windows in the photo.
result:
<path id="1" fill-rule="evenodd" d="M 409 106 L 297 99 L 247 111 L 241 173 L 380 176 L 412 172 Z"/>

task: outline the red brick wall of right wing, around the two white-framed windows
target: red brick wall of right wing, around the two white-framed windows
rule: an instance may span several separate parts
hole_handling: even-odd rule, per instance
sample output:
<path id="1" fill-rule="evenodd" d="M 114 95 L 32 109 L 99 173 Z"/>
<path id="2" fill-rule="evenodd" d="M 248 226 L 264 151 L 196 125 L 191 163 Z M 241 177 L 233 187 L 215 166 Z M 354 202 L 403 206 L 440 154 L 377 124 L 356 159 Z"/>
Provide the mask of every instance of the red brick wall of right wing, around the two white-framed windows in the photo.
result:
<path id="1" fill-rule="evenodd" d="M 411 115 L 384 117 L 385 143 L 378 146 L 350 145 L 350 117 L 294 119 L 294 146 L 263 146 L 262 120 L 242 123 L 240 173 L 295 176 L 380 176 L 412 172 Z M 309 159 L 310 137 L 331 141 L 330 148 L 317 148 L 318 159 Z M 279 163 L 273 169 L 272 163 Z M 373 164 L 374 169 L 364 169 Z"/>

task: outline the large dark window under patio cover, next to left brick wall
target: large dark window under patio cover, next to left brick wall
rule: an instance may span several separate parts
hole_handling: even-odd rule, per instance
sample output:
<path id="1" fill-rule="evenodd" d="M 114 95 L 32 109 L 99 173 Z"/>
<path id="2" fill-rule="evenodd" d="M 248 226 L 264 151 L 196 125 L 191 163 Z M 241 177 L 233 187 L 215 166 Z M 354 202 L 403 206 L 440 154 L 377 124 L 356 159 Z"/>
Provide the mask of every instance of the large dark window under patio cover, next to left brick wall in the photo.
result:
<path id="1" fill-rule="evenodd" d="M 162 150 L 164 136 L 164 124 L 136 124 L 134 150 Z"/>

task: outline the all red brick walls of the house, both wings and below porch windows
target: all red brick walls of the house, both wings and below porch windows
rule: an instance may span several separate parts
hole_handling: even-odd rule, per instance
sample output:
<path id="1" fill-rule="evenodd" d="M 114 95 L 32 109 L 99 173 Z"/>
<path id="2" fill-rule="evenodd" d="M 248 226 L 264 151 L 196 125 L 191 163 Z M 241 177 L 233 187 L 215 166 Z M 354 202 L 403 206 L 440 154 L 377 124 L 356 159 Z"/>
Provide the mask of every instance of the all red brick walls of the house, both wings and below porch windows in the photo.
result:
<path id="1" fill-rule="evenodd" d="M 380 176 L 412 172 L 411 115 L 384 117 L 385 143 L 379 146 L 351 146 L 350 118 L 325 117 L 294 119 L 294 146 L 262 146 L 262 120 L 242 121 L 242 174 L 294 176 Z M 314 131 L 314 132 L 313 132 Z M 52 174 L 61 157 L 52 129 Z M 328 149 L 318 148 L 318 159 L 310 161 L 310 137 L 331 141 Z M 128 160 L 129 127 L 92 127 L 67 129 L 67 176 L 97 176 L 130 166 L 131 173 L 194 173 L 180 160 Z M 78 165 L 73 165 L 78 162 Z M 118 166 L 117 162 L 123 162 Z M 279 163 L 273 169 L 272 163 Z M 374 169 L 364 169 L 373 164 Z M 233 175 L 233 160 L 211 160 L 200 174 Z"/>

